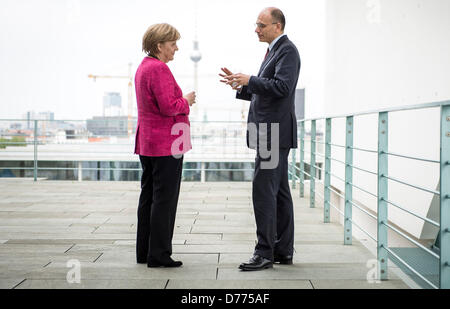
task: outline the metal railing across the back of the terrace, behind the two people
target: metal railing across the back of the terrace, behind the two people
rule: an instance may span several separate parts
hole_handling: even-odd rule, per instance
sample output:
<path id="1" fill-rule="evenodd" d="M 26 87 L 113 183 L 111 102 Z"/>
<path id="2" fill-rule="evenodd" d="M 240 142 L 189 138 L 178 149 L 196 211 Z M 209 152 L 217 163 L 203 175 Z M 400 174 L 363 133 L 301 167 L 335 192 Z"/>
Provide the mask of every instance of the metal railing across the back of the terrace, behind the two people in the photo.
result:
<path id="1" fill-rule="evenodd" d="M 138 156 L 133 156 L 134 132 L 128 134 L 128 126 L 123 125 L 124 121 L 126 123 L 127 120 L 0 119 L 0 160 L 17 161 L 18 159 L 14 157 L 2 156 L 2 147 L 9 149 L 15 147 L 15 152 L 21 154 L 24 159 L 23 161 L 32 162 L 32 166 L 0 166 L 0 171 L 33 171 L 32 176 L 35 181 L 37 181 L 39 174 L 44 171 L 73 171 L 75 174 L 78 174 L 77 178 L 79 181 L 83 179 L 83 171 L 140 173 L 139 158 Z M 4 127 L 3 130 L 1 130 L 2 124 Z M 5 129 L 8 125 L 14 127 L 14 124 L 19 124 L 17 126 L 19 129 Z M 93 128 L 89 129 L 89 124 Z M 69 129 L 58 129 L 58 126 L 66 126 Z M 191 121 L 193 149 L 188 152 L 185 158 L 188 157 L 190 158 L 190 162 L 198 162 L 199 164 L 197 164 L 198 166 L 185 164 L 183 173 L 197 172 L 200 174 L 200 181 L 203 182 L 206 180 L 205 174 L 207 172 L 253 172 L 253 168 L 242 168 L 242 166 L 232 168 L 208 167 L 208 164 L 211 165 L 210 163 L 214 162 L 214 158 L 220 158 L 221 163 L 227 163 L 225 165 L 254 161 L 254 154 L 245 145 L 246 126 L 247 123 L 243 121 Z M 133 128 L 135 129 L 135 127 L 136 123 L 134 121 Z M 103 131 L 107 132 L 108 130 L 112 130 L 114 133 L 109 135 L 102 134 Z M 14 132 L 14 134 L 11 132 Z M 17 132 L 21 133 L 18 134 Z M 62 136 L 58 136 L 58 132 L 62 133 Z M 13 140 L 13 137 L 16 137 L 16 139 Z M 21 140 L 17 141 L 17 139 Z M 108 139 L 110 141 L 102 142 Z M 22 149 L 20 146 L 24 148 Z M 50 146 L 54 146 L 54 148 L 44 150 Z M 66 149 L 67 147 L 70 148 Z M 95 147 L 95 149 L 90 147 Z M 4 153 L 7 152 L 5 151 Z M 53 159 L 43 159 L 45 155 L 49 154 L 53 155 Z M 116 155 L 120 158 L 108 158 L 109 155 Z M 70 159 L 66 159 L 67 156 Z M 77 157 L 80 159 L 77 159 Z M 104 158 L 101 159 L 102 157 Z M 132 158 L 130 159 L 130 157 Z M 202 161 L 205 157 L 209 161 Z M 125 160 L 121 160 L 121 158 L 125 158 Z M 42 163 L 43 161 L 62 160 L 73 162 L 74 165 L 68 167 L 49 167 L 46 166 L 48 164 Z M 82 162 L 86 161 L 124 161 L 136 163 L 136 166 L 121 168 L 111 164 L 107 167 L 89 167 L 82 164 Z"/>

